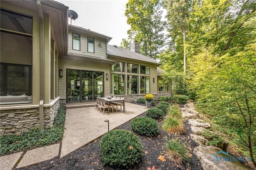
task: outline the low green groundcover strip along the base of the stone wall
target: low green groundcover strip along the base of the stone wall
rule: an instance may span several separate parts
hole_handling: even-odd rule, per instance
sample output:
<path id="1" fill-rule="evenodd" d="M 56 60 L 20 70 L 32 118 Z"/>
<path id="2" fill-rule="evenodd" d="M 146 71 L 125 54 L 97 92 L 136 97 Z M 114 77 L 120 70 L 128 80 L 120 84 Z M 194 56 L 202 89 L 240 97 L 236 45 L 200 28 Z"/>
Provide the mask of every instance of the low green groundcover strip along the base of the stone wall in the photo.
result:
<path id="1" fill-rule="evenodd" d="M 58 109 L 52 127 L 29 129 L 20 135 L 3 135 L 0 137 L 0 154 L 21 152 L 35 147 L 43 147 L 62 140 L 66 109 Z"/>

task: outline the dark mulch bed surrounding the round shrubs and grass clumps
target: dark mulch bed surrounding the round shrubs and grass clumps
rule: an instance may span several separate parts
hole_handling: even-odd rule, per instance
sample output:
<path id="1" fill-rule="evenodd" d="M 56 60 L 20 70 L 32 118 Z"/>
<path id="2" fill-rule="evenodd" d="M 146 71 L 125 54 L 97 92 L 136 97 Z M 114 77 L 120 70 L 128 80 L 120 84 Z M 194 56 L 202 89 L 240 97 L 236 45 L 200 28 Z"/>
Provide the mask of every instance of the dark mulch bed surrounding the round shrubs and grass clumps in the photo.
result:
<path id="1" fill-rule="evenodd" d="M 140 116 L 145 116 L 145 113 L 142 113 Z M 143 146 L 144 156 L 140 163 L 138 163 L 135 167 L 131 168 L 131 170 L 146 170 L 147 166 L 153 167 L 156 166 L 159 170 L 203 170 L 200 161 L 193 153 L 193 150 L 198 145 L 190 139 L 190 133 L 192 133 L 190 129 L 190 125 L 188 121 L 184 122 L 184 127 L 186 129 L 186 133 L 179 135 L 180 139 L 184 142 L 190 142 L 190 156 L 191 161 L 188 164 L 175 164 L 171 160 L 165 156 L 166 161 L 162 162 L 162 160 L 158 159 L 160 155 L 164 156 L 164 143 L 165 137 L 171 138 L 172 136 L 165 131 L 162 130 L 162 121 L 158 121 L 160 127 L 160 135 L 153 138 L 148 138 L 144 136 L 140 136 L 136 134 Z M 130 129 L 130 121 L 122 124 L 116 129 L 126 129 L 131 131 Z M 28 170 L 117 170 L 117 168 L 103 166 L 102 157 L 99 152 L 99 141 L 101 138 L 95 140 L 92 143 L 81 147 L 78 150 L 64 156 L 63 158 L 53 158 L 52 160 L 44 161 L 36 165 L 32 165 L 26 168 Z"/>

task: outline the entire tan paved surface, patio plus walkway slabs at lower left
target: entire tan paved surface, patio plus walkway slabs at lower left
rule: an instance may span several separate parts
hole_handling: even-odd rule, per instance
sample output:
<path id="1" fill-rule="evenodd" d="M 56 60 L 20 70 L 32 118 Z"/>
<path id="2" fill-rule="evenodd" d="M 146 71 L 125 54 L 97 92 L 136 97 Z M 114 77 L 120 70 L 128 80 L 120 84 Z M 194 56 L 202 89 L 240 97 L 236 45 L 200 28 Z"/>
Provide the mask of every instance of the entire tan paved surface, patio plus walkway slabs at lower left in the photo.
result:
<path id="1" fill-rule="evenodd" d="M 54 144 L 47 147 L 28 150 L 27 152 L 18 152 L 11 155 L 0 157 L 0 170 L 12 170 L 13 168 L 21 168 L 39 162 L 50 160 L 56 156 L 62 158 L 66 154 L 94 141 L 123 123 L 133 119 L 134 117 L 144 113 L 146 106 L 140 106 L 131 103 L 125 103 L 126 112 L 122 112 L 119 108 L 118 112 L 110 112 L 109 115 L 105 111 L 104 115 L 94 107 L 83 107 L 76 109 L 67 109 L 64 137 L 62 145 Z M 61 149 L 60 149 L 61 148 Z M 18 162 L 20 160 L 20 162 Z"/>

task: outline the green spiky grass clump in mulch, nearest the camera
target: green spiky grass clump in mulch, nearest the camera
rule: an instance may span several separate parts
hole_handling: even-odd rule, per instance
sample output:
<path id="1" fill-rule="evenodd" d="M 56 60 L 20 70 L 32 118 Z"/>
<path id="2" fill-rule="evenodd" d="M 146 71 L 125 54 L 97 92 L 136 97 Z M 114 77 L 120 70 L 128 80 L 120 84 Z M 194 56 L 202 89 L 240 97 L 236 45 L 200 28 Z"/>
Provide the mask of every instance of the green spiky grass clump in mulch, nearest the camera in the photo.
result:
<path id="1" fill-rule="evenodd" d="M 168 158 L 173 162 L 180 164 L 182 162 L 187 163 L 190 161 L 187 143 L 182 143 L 178 137 L 174 137 L 172 139 L 166 138 L 164 148 L 167 150 Z"/>

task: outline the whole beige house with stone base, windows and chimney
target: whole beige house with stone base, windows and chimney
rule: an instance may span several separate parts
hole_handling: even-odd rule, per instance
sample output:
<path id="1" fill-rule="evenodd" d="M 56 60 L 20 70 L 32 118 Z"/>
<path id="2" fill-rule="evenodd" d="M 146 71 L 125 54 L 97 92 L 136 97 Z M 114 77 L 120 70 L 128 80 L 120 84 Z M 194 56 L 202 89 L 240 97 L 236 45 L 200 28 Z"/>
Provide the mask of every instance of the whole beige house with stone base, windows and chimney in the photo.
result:
<path id="1" fill-rule="evenodd" d="M 159 63 L 141 55 L 137 42 L 123 49 L 108 45 L 109 36 L 68 25 L 68 7 L 56 1 L 0 5 L 1 135 L 51 126 L 58 108 L 94 104 L 98 96 L 130 102 L 164 91 Z"/>

